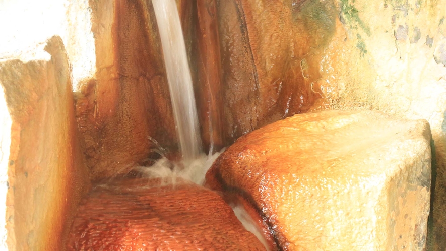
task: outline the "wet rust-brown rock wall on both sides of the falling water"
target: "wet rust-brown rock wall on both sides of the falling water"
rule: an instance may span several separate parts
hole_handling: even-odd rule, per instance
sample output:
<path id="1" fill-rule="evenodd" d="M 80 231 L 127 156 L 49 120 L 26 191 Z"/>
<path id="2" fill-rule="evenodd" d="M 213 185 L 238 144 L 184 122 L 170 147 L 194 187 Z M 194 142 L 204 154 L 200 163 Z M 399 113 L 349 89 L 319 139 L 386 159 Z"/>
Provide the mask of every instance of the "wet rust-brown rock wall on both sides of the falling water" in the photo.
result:
<path id="1" fill-rule="evenodd" d="M 81 81 L 77 118 L 92 179 L 177 151 L 151 1 L 91 2 L 96 74 Z M 314 64 L 334 35 L 332 1 L 177 1 L 205 150 L 308 111 L 324 80 Z"/>

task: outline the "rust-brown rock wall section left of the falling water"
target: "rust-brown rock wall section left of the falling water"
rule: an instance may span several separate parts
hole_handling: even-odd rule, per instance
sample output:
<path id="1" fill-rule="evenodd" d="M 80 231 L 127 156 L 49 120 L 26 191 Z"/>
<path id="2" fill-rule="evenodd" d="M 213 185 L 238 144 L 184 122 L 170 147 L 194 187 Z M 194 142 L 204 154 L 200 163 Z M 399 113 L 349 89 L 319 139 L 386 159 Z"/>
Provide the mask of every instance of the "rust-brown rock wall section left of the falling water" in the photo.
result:
<path id="1" fill-rule="evenodd" d="M 151 153 L 177 149 L 151 1 L 91 1 L 96 79 L 80 88 L 80 127 L 92 179 L 124 174 Z M 94 86 L 94 87 L 92 87 Z"/>

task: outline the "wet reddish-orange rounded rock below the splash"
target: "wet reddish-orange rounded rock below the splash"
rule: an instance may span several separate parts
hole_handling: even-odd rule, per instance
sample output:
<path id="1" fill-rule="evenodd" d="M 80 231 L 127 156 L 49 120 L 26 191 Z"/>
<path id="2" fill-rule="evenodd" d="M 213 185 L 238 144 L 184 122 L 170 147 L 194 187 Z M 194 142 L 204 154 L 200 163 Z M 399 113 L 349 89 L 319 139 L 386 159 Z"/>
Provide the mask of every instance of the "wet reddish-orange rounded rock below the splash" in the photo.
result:
<path id="1" fill-rule="evenodd" d="M 265 250 L 217 193 L 158 182 L 96 185 L 79 208 L 67 250 Z"/>

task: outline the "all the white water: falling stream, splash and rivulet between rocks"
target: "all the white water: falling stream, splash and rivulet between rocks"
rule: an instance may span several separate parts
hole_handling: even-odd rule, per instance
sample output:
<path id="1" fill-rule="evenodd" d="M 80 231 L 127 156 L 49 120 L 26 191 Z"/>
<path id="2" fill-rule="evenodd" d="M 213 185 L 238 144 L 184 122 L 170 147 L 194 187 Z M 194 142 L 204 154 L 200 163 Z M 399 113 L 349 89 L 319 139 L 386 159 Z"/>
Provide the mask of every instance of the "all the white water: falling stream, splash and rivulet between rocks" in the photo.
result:
<path id="1" fill-rule="evenodd" d="M 136 167 L 145 177 L 161 178 L 161 185 L 175 184 L 177 178 L 204 185 L 205 175 L 214 160 L 224 151 L 203 153 L 199 133 L 198 115 L 192 85 L 192 77 L 187 63 L 181 23 L 175 0 L 152 0 L 163 47 L 164 62 L 169 82 L 170 98 L 176 125 L 183 164 L 172 163 L 163 157 L 154 165 Z M 231 205 L 236 217 L 246 230 L 256 235 L 268 245 L 256 223 L 241 205 Z"/>

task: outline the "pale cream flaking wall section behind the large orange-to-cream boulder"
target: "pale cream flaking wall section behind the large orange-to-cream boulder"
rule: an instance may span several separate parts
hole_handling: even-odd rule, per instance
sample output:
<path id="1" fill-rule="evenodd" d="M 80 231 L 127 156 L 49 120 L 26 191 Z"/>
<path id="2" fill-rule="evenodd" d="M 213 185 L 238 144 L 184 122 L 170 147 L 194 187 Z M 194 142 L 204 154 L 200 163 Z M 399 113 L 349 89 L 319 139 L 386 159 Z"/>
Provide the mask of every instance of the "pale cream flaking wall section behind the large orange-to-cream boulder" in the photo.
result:
<path id="1" fill-rule="evenodd" d="M 428 250 L 445 250 L 446 1 L 340 1 L 338 8 L 336 34 L 313 58 L 325 83 L 320 108 L 374 109 L 429 122 L 437 176 Z"/>

